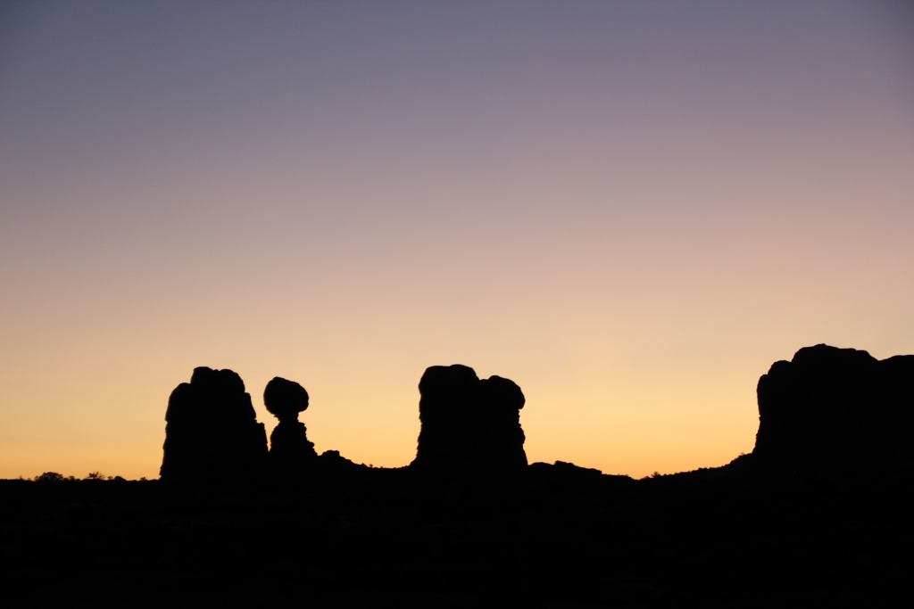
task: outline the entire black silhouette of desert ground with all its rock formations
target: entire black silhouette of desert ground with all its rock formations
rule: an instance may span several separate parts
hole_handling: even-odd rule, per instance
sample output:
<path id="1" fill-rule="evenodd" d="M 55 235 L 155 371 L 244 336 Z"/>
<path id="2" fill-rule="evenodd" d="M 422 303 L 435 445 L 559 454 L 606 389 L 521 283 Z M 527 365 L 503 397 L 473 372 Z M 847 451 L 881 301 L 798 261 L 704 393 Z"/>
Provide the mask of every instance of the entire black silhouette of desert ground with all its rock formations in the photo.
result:
<path id="1" fill-rule="evenodd" d="M 197 368 L 161 479 L 0 481 L 5 606 L 909 604 L 914 356 L 825 345 L 759 382 L 752 453 L 633 480 L 526 465 L 513 382 L 420 381 L 409 467 L 317 456 L 276 378 Z M 99 478 L 99 477 L 94 477 Z"/>

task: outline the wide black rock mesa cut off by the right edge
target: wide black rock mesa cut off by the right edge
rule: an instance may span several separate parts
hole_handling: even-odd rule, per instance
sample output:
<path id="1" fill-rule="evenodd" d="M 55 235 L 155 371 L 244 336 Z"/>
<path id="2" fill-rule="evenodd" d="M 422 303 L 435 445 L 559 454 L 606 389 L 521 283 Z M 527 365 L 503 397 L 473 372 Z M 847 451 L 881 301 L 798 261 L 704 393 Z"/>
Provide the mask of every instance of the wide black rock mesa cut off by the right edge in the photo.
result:
<path id="1" fill-rule="evenodd" d="M 793 471 L 910 467 L 914 355 L 878 361 L 824 344 L 759 380 L 753 455 Z"/>

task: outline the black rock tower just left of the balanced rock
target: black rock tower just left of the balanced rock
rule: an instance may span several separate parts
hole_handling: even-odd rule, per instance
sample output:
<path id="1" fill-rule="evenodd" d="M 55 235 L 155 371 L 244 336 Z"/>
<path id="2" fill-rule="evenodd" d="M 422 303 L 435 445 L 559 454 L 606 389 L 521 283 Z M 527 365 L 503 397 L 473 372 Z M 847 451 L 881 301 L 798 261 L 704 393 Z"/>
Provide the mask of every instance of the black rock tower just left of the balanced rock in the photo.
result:
<path id="1" fill-rule="evenodd" d="M 165 480 L 256 477 L 267 457 L 267 435 L 230 370 L 195 368 L 168 399 L 160 476 Z"/>

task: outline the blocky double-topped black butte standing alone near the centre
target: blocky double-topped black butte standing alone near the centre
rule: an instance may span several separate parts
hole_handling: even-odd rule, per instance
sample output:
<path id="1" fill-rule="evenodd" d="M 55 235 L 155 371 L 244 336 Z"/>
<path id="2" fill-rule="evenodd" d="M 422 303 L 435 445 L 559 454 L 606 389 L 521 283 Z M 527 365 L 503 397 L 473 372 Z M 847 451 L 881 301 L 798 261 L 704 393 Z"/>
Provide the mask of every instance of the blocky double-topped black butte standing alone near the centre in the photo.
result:
<path id="1" fill-rule="evenodd" d="M 419 383 L 419 449 L 410 467 L 506 472 L 526 466 L 524 394 L 500 376 L 480 380 L 462 365 L 432 366 Z"/>

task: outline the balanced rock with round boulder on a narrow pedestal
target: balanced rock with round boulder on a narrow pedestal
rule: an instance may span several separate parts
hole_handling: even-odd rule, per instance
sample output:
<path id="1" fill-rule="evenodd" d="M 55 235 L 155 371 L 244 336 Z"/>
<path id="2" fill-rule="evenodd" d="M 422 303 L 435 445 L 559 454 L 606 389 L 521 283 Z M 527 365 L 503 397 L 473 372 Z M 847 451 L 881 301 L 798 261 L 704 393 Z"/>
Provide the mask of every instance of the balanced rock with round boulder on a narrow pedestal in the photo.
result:
<path id="1" fill-rule="evenodd" d="M 270 435 L 270 459 L 280 471 L 294 471 L 314 463 L 317 453 L 307 430 L 298 420 L 308 408 L 308 392 L 299 383 L 275 377 L 263 390 L 263 404 L 280 420 Z"/>

